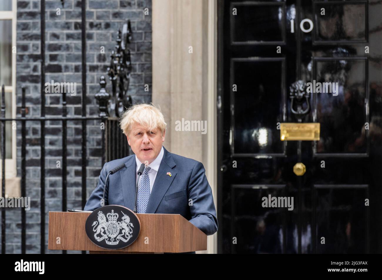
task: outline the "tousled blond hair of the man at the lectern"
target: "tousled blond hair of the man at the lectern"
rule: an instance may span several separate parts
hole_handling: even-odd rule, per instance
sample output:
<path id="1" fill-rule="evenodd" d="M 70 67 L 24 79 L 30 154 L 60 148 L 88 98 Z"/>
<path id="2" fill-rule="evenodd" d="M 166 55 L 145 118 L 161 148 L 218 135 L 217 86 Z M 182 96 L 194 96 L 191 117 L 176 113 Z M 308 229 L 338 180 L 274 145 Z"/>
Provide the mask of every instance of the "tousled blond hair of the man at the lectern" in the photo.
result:
<path id="1" fill-rule="evenodd" d="M 163 132 L 166 129 L 167 124 L 163 117 L 160 107 L 155 107 L 152 103 L 136 104 L 128 108 L 120 118 L 120 127 L 123 134 L 129 135 L 133 124 L 140 124 L 147 127 L 149 130 L 159 128 Z"/>

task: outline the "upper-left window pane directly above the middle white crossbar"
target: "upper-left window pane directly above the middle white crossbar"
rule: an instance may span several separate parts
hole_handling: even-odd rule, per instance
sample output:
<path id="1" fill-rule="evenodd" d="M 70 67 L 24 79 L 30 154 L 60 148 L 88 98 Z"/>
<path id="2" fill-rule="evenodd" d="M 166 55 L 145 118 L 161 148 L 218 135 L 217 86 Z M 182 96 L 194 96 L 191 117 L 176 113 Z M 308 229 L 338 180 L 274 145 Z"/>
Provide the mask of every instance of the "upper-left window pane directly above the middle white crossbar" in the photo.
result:
<path id="1" fill-rule="evenodd" d="M 12 85 L 12 21 L 0 21 L 0 86 Z"/>

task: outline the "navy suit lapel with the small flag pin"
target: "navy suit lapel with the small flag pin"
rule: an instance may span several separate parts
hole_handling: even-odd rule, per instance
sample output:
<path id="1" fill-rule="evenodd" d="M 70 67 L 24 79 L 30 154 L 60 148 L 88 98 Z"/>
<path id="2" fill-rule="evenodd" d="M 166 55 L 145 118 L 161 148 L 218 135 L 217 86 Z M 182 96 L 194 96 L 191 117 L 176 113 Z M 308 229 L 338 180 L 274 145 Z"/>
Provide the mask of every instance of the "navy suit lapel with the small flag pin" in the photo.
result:
<path id="1" fill-rule="evenodd" d="M 163 150 L 163 158 L 159 165 L 154 185 L 152 186 L 149 202 L 147 203 L 146 213 L 155 213 L 160 201 L 162 200 L 176 175 L 176 172 L 173 170 L 173 167 L 175 167 L 176 164 L 172 159 L 172 156 L 164 147 Z M 167 172 L 171 172 L 171 177 L 167 175 Z"/>

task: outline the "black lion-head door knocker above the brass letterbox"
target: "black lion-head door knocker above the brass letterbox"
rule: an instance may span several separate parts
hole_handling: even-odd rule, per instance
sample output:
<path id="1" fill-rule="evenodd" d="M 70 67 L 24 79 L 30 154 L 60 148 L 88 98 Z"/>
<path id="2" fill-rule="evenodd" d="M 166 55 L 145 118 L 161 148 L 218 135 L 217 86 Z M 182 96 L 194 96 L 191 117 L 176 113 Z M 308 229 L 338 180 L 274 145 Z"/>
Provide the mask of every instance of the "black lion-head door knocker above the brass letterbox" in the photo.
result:
<path id="1" fill-rule="evenodd" d="M 290 108 L 293 114 L 295 114 L 298 122 L 302 121 L 302 118 L 309 113 L 310 104 L 309 104 L 309 93 L 306 92 L 306 82 L 303 80 L 298 80 L 290 85 Z M 304 109 L 304 103 L 306 107 Z"/>

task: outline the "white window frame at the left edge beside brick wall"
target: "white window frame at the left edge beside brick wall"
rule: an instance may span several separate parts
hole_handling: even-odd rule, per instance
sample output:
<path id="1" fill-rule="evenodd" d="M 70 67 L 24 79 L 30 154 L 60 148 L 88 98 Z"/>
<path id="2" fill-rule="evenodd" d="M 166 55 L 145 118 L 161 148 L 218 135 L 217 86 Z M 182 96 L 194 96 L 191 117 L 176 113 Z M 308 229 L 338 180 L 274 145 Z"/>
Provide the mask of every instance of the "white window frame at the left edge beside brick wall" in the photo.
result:
<path id="1" fill-rule="evenodd" d="M 12 21 L 12 47 L 16 47 L 16 24 L 17 24 L 17 0 L 12 0 L 11 11 L 0 11 L 0 20 L 10 19 Z M 1 93 L 0 85 L 0 93 Z M 12 96 L 12 118 L 16 118 L 16 53 L 12 51 L 12 85 L 5 86 L 5 92 L 11 92 Z M 0 105 L 1 106 L 1 105 Z M 13 122 L 12 122 L 13 125 Z M 16 127 L 18 128 L 18 127 Z M 6 147 L 7 148 L 7 147 Z M 14 178 L 16 169 L 16 129 L 12 129 L 12 158 L 5 159 L 5 178 Z M 2 178 L 2 161 L 0 160 L 0 179 Z M 1 190 L 0 190 L 1 192 Z"/>

